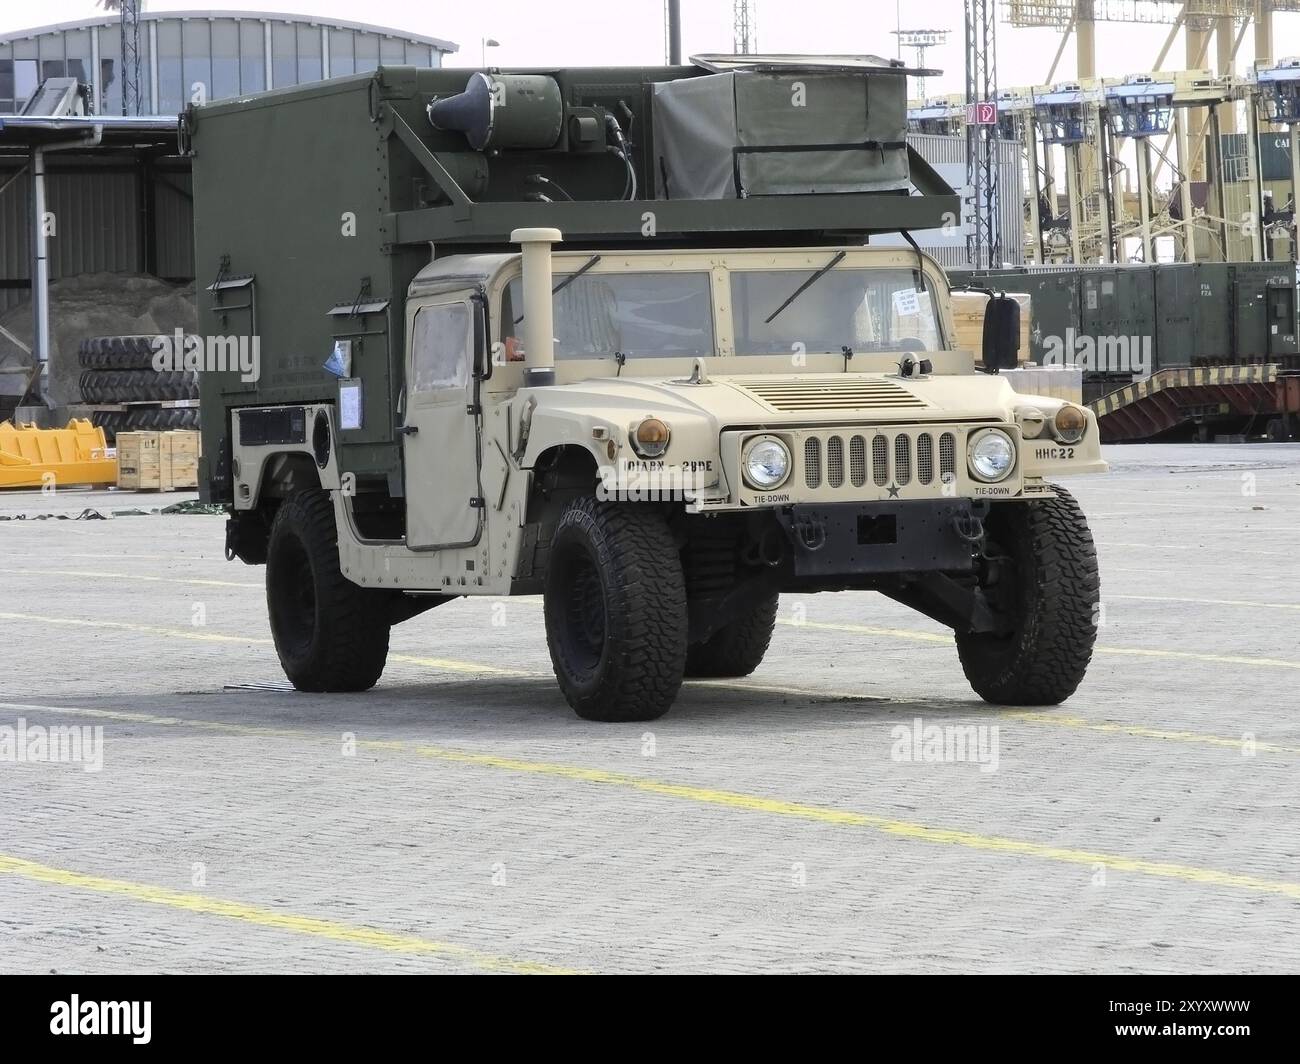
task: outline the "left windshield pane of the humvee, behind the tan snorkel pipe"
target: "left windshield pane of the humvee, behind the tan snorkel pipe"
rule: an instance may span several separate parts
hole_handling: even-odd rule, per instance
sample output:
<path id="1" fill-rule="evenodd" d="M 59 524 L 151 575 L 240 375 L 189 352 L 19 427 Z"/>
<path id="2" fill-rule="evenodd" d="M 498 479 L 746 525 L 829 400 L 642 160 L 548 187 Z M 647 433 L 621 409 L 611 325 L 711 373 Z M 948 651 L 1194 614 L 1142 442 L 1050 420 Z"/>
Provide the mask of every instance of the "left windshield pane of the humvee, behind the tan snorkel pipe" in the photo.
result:
<path id="1" fill-rule="evenodd" d="M 569 280 L 573 278 L 573 280 Z M 690 358 L 712 355 L 708 273 L 556 273 L 555 358 Z M 502 339 L 523 356 L 523 284 L 502 295 Z M 516 354 L 517 352 L 517 354 Z"/>

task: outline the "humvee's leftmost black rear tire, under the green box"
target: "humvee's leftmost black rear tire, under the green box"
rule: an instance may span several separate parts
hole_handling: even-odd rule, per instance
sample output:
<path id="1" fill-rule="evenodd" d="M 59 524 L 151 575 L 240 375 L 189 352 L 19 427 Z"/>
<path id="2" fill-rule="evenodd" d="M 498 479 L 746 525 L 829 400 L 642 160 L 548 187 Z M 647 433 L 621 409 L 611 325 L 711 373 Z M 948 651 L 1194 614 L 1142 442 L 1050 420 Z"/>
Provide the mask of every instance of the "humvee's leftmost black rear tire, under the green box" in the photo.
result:
<path id="1" fill-rule="evenodd" d="M 285 499 L 266 546 L 266 606 L 276 653 L 299 691 L 368 691 L 389 654 L 385 592 L 360 588 L 338 566 L 326 492 Z"/>

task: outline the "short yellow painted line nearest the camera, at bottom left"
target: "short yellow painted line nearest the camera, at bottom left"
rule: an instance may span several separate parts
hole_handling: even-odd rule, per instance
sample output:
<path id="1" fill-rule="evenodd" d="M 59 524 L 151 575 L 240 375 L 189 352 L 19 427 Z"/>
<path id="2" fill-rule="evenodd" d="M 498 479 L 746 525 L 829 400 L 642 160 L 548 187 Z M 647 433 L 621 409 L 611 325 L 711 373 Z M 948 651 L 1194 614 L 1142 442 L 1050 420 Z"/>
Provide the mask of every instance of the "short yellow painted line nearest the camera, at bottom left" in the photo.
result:
<path id="1" fill-rule="evenodd" d="M 346 946 L 363 946 L 389 953 L 424 953 L 446 960 L 464 961 L 473 968 L 486 972 L 511 972 L 532 976 L 576 974 L 571 969 L 552 968 L 549 964 L 536 961 L 512 960 L 494 953 L 485 953 L 480 950 L 471 950 L 451 942 L 438 942 L 436 939 L 420 938 L 419 935 L 384 931 L 378 927 L 343 924 L 337 920 L 324 920 L 315 916 L 298 916 L 296 913 L 281 909 L 268 909 L 261 905 L 229 901 L 202 894 L 187 894 L 170 890 L 169 887 L 135 883 L 129 879 L 108 879 L 103 875 L 87 875 L 82 871 L 52 868 L 51 865 L 42 865 L 36 861 L 27 861 L 5 853 L 0 853 L 0 874 L 16 875 L 20 879 L 55 887 L 116 895 L 150 905 L 161 905 L 168 909 L 179 909 L 203 916 L 220 916 L 240 924 L 251 924 L 257 927 L 269 927 L 298 935 L 311 935 L 312 938 L 324 938 L 332 942 L 341 942 Z"/>

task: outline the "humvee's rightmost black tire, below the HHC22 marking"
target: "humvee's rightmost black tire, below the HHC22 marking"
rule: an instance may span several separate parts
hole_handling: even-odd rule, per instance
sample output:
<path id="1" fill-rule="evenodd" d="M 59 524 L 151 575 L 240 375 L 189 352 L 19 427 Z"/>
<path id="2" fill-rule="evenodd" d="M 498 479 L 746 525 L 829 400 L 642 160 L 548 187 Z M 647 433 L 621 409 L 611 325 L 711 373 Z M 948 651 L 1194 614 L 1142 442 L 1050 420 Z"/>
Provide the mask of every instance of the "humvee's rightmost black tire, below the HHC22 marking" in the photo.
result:
<path id="1" fill-rule="evenodd" d="M 1015 630 L 1009 636 L 957 635 L 966 679 L 987 702 L 1056 705 L 1078 689 L 1097 640 L 1101 580 L 1083 510 L 1063 488 L 1057 498 L 998 503 L 987 531 L 1011 559 Z"/>

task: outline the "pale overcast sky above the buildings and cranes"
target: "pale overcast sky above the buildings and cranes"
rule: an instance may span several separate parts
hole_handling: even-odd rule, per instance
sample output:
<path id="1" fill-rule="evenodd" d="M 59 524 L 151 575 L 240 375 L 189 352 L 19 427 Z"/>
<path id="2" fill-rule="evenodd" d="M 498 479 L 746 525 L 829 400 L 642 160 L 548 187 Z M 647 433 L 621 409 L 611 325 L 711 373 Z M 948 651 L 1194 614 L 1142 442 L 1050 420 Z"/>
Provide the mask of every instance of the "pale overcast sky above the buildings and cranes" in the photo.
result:
<path id="1" fill-rule="evenodd" d="M 682 0 L 682 51 L 732 51 L 732 0 Z M 941 68 L 927 95 L 963 91 L 962 0 L 757 0 L 758 44 L 772 52 L 868 52 L 896 55 L 890 34 L 902 9 L 904 29 L 950 30 L 952 40 L 932 49 L 927 65 Z M 490 61 L 502 66 L 655 64 L 664 57 L 663 0 L 150 0 L 148 10 L 276 10 L 344 18 L 439 36 L 460 44 L 448 65 L 480 62 L 481 39 L 499 48 Z M 1001 5 L 998 5 L 1001 8 Z M 95 0 L 0 0 L 0 33 L 34 25 L 92 18 L 103 14 Z M 1274 17 L 1274 38 L 1282 55 L 1300 53 L 1300 14 Z M 1167 27 L 1109 23 L 1097 27 L 1097 68 L 1102 75 L 1149 69 Z M 1052 30 L 998 26 L 998 83 L 1002 87 L 1041 83 L 1056 52 Z M 1247 34 L 1239 65 L 1252 55 Z M 1169 69 L 1184 64 L 1179 40 Z M 911 59 L 909 53 L 906 59 Z M 1072 42 L 1057 81 L 1074 74 Z"/>

